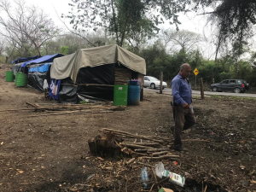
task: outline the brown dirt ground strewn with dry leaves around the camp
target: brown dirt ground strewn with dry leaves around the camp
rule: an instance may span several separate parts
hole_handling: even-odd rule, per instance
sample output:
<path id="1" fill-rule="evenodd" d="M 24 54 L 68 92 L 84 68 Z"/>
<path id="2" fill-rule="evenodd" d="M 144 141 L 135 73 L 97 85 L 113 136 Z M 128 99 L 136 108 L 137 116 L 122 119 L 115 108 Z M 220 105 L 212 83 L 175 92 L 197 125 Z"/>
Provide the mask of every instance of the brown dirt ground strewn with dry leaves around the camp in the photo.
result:
<path id="1" fill-rule="evenodd" d="M 90 154 L 88 139 L 96 137 L 99 129 L 110 128 L 170 138 L 172 143 L 171 95 L 145 90 L 146 100 L 125 111 L 40 116 L 21 109 L 31 108 L 26 102 L 53 102 L 45 101 L 37 90 L 5 82 L 9 66 L 0 67 L 0 191 L 158 191 L 149 166 L 160 161 L 167 170 L 186 178 L 183 188 L 166 181 L 160 187 L 256 191 L 256 100 L 194 96 L 197 123 L 183 139 L 210 142 L 183 142 L 188 152 L 171 151 L 179 155 L 176 160 L 137 158 L 125 166 L 129 157 L 104 160 Z M 149 165 L 148 189 L 143 189 L 143 165 L 138 161 Z"/>

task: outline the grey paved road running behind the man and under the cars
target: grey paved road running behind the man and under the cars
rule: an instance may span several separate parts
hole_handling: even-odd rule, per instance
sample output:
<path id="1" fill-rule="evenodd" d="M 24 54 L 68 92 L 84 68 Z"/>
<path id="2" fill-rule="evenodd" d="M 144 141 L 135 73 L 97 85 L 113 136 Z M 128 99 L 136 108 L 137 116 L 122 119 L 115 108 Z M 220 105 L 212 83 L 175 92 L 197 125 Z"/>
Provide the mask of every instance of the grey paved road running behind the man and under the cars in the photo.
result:
<path id="1" fill-rule="evenodd" d="M 159 90 L 152 90 L 150 88 L 144 88 L 144 91 L 159 91 Z M 163 90 L 166 93 L 172 93 L 172 89 L 166 88 Z M 199 90 L 192 90 L 192 94 L 194 95 L 201 95 Z M 205 91 L 206 96 L 240 96 L 240 97 L 253 97 L 256 98 L 256 94 L 248 94 L 248 93 L 231 93 L 231 92 L 212 92 L 212 91 Z"/>

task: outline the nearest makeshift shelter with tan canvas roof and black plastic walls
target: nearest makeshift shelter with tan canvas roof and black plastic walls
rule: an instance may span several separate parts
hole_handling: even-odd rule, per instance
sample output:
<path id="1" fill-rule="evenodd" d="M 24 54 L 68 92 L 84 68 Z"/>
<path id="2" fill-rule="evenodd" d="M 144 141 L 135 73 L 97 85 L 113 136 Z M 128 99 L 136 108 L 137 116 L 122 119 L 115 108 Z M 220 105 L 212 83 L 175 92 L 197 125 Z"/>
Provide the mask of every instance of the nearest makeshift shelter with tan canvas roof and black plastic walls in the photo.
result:
<path id="1" fill-rule="evenodd" d="M 56 58 L 50 68 L 55 84 L 61 80 L 60 101 L 73 103 L 83 98 L 113 101 L 114 84 L 128 84 L 145 74 L 145 60 L 118 45 L 79 49 Z"/>

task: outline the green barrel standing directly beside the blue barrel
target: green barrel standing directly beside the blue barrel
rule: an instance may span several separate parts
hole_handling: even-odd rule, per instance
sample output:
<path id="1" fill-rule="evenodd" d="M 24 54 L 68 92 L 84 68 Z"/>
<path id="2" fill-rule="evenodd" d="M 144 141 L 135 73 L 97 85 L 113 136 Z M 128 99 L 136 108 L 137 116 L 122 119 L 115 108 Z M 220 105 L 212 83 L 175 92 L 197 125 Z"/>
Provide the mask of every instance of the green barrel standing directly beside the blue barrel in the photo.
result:
<path id="1" fill-rule="evenodd" d="M 128 84 L 113 85 L 113 105 L 127 106 Z"/>

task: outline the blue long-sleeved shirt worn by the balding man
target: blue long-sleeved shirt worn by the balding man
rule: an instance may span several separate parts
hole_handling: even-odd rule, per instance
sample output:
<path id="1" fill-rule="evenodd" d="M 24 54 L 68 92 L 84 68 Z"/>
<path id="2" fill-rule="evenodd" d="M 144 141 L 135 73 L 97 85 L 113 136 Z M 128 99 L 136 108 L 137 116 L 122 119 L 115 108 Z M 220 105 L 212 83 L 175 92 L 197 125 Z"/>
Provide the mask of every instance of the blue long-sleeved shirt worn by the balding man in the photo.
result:
<path id="1" fill-rule="evenodd" d="M 192 102 L 192 90 L 189 85 L 189 79 L 186 81 L 179 73 L 172 79 L 172 97 L 173 102 L 176 102 L 178 105 L 183 105 L 185 102 L 190 104 Z"/>

